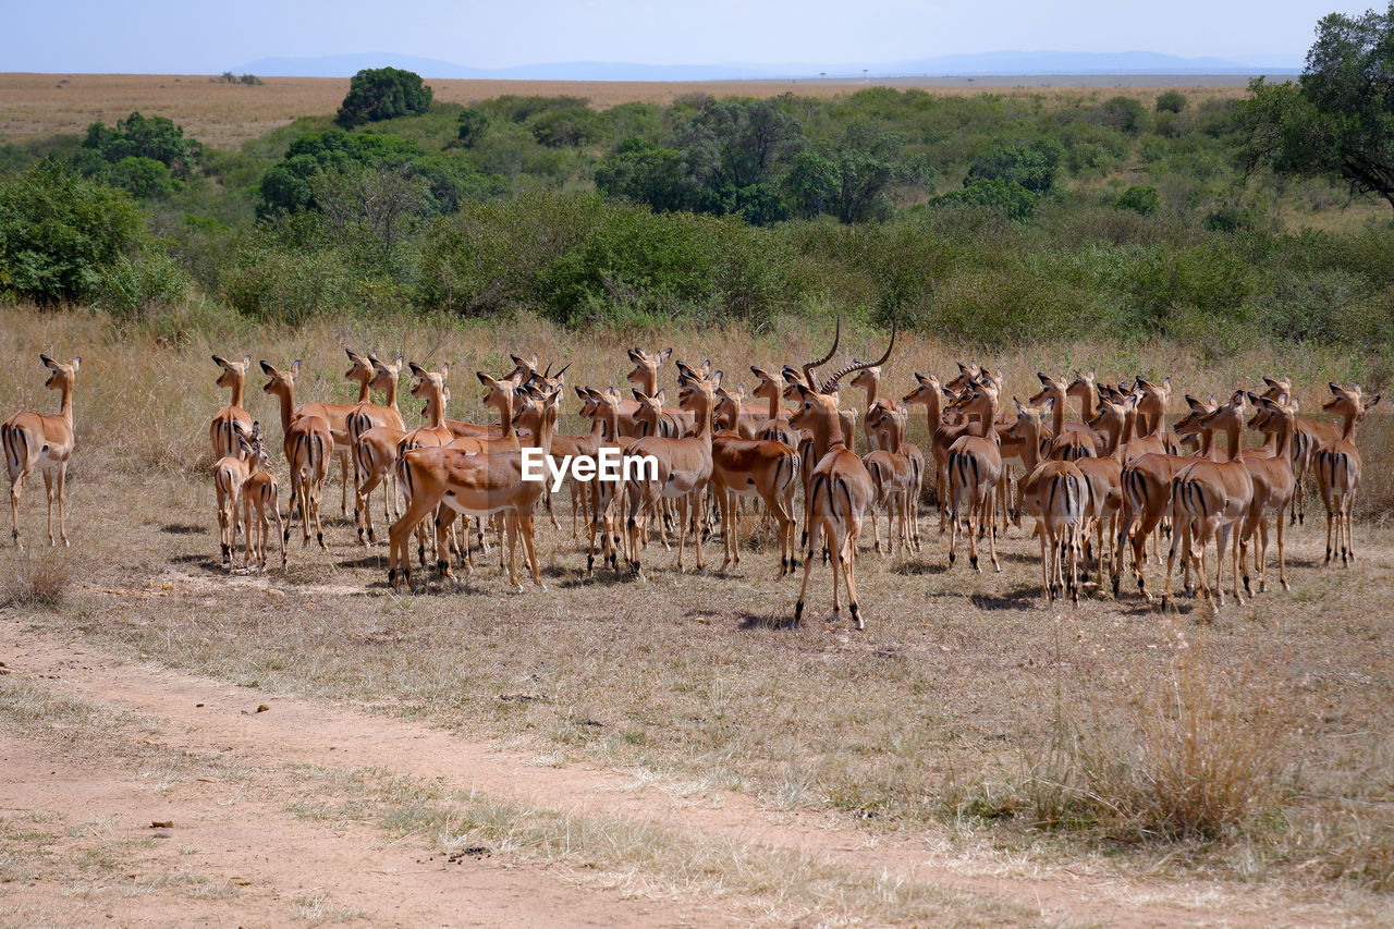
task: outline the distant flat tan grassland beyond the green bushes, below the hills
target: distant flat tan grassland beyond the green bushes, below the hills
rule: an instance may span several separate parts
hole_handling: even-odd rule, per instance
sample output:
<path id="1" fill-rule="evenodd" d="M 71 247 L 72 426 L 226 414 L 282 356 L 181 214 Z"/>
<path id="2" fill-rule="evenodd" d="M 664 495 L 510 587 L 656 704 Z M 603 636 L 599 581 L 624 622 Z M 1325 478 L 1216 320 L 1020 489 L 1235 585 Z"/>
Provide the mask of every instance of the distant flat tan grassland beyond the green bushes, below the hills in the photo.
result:
<path id="1" fill-rule="evenodd" d="M 102 120 L 113 124 L 132 110 L 164 116 L 206 145 L 236 149 L 301 116 L 333 113 L 348 92 L 348 78 L 263 78 L 261 85 L 227 84 L 194 74 L 0 74 L 0 142 L 22 142 L 49 135 L 85 133 Z M 878 80 L 875 86 L 917 88 L 928 93 L 965 96 L 981 93 L 1032 95 L 1071 103 L 1122 93 L 1150 100 L 1172 85 L 1165 77 L 1156 85 L 1114 88 L 934 85 L 906 80 Z M 834 98 L 855 93 L 868 84 L 856 81 L 454 81 L 428 80 L 441 103 L 475 103 L 512 95 L 580 96 L 598 109 L 619 103 L 672 103 L 691 93 L 765 98 L 781 93 Z M 1193 100 L 1238 99 L 1242 86 L 1179 86 Z"/>

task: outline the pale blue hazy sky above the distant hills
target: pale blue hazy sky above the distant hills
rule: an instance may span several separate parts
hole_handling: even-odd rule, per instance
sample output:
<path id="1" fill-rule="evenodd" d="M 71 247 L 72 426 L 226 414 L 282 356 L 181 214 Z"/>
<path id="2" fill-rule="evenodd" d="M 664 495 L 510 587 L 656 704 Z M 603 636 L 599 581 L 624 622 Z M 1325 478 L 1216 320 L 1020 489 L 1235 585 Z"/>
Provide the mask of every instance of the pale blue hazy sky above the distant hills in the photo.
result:
<path id="1" fill-rule="evenodd" d="M 1340 1 L 0 0 L 0 71 L 210 74 L 262 57 L 354 52 L 487 68 L 834 66 L 1006 49 L 1301 59 L 1320 17 L 1374 4 Z"/>

